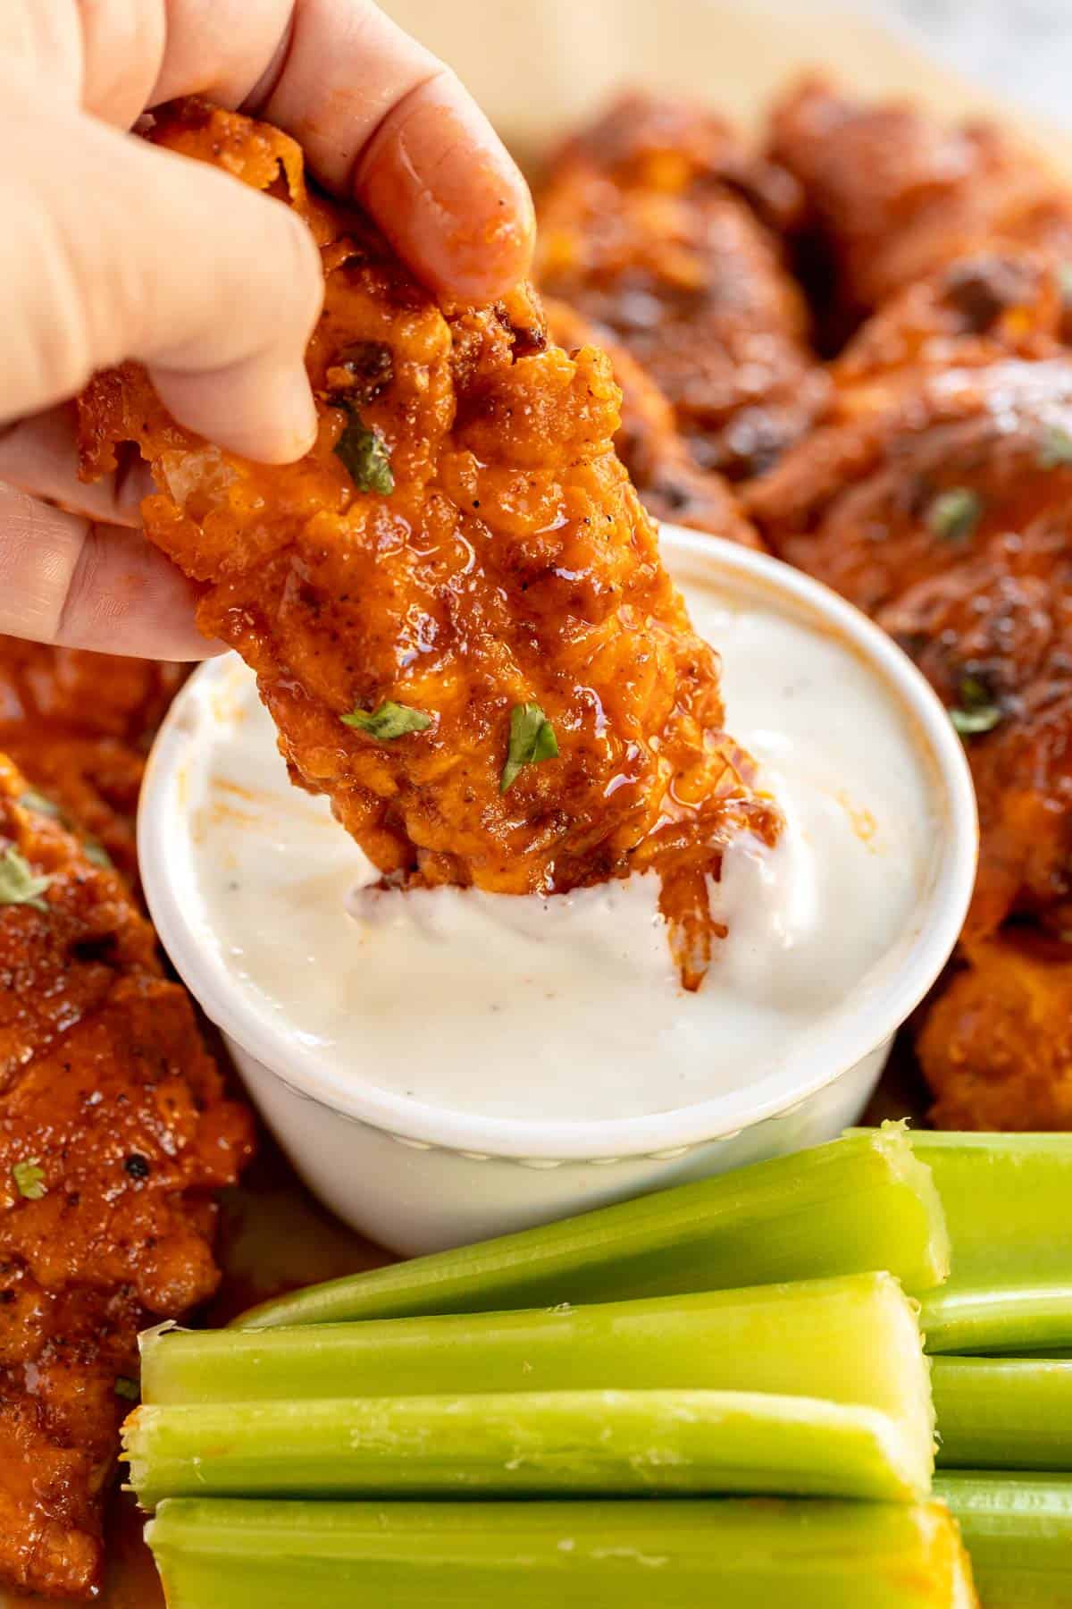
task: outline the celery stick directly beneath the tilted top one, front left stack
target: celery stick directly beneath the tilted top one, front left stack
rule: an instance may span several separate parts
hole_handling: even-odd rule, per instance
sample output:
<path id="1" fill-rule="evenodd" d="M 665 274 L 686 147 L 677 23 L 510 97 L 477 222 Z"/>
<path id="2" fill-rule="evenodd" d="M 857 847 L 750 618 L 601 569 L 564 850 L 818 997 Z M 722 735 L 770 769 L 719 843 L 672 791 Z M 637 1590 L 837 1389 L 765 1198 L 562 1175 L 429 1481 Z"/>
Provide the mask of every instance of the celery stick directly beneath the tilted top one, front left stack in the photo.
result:
<path id="1" fill-rule="evenodd" d="M 926 1456 L 931 1377 L 890 1274 L 593 1307 L 262 1331 L 151 1329 L 141 1401 L 693 1389 L 823 1397 L 894 1414 Z"/>

